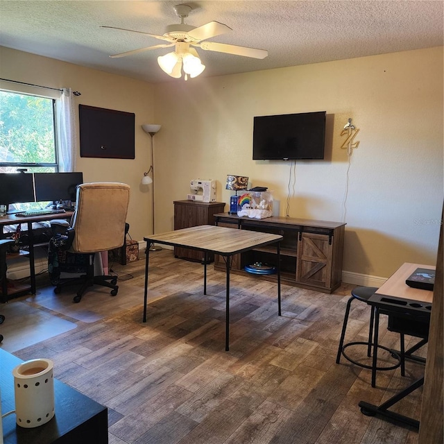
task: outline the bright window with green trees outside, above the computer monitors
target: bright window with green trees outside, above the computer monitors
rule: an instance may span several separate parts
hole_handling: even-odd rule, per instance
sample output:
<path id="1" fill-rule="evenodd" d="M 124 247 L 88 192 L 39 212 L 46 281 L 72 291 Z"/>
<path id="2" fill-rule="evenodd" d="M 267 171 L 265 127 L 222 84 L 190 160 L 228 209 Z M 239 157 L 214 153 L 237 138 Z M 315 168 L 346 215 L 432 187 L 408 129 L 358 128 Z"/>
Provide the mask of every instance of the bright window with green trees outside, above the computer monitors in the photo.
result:
<path id="1" fill-rule="evenodd" d="M 0 90 L 0 173 L 56 172 L 56 101 Z"/>

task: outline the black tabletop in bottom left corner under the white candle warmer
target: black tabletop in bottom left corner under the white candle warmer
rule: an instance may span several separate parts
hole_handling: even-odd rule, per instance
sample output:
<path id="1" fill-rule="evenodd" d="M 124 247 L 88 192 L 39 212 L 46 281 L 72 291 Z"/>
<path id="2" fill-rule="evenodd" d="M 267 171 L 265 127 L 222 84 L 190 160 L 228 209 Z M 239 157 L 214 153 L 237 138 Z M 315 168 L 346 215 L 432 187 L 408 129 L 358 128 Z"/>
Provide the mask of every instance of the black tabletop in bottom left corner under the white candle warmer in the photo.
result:
<path id="1" fill-rule="evenodd" d="M 12 368 L 22 359 L 0 348 L 1 412 L 15 409 Z M 25 429 L 15 424 L 15 414 L 3 418 L 5 444 L 107 444 L 108 409 L 74 388 L 54 379 L 56 415 L 46 424 Z"/>

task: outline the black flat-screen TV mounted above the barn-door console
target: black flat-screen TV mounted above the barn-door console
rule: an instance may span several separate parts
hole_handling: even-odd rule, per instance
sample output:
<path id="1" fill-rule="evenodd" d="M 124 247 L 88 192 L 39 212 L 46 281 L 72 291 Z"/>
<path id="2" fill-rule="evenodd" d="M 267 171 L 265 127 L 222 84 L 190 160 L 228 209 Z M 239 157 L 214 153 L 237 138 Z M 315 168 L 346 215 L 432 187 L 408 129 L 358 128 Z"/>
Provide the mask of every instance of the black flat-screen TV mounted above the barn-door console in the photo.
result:
<path id="1" fill-rule="evenodd" d="M 253 160 L 322 160 L 325 111 L 258 116 L 253 123 Z"/>

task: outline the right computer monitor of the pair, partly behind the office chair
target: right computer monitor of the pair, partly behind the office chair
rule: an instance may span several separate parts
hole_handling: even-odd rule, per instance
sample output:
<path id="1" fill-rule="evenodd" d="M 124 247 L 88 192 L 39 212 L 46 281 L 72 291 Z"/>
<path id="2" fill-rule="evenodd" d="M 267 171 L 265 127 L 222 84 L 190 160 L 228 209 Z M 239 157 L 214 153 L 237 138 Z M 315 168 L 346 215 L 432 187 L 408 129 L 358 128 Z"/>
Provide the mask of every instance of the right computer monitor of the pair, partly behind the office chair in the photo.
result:
<path id="1" fill-rule="evenodd" d="M 35 201 L 76 200 L 76 187 L 83 173 L 34 173 Z"/>

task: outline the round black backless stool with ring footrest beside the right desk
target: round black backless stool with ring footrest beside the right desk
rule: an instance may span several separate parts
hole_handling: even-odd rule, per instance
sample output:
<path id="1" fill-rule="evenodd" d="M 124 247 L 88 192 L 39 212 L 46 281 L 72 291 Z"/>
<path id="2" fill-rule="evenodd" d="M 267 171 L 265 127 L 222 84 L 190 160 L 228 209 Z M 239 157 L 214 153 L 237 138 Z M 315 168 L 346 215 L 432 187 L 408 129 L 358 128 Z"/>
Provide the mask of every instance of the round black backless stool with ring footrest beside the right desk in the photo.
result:
<path id="1" fill-rule="evenodd" d="M 350 296 L 350 298 L 348 299 L 347 308 L 345 309 L 345 316 L 344 316 L 344 321 L 343 321 L 343 325 L 342 325 L 341 339 L 339 340 L 338 354 L 336 356 L 336 364 L 339 364 L 339 361 L 341 359 L 341 355 L 343 355 L 343 357 L 345 357 L 345 359 L 350 361 L 352 364 L 355 364 L 356 366 L 359 366 L 362 368 L 368 368 L 369 370 L 372 370 L 372 387 L 375 386 L 375 374 L 376 374 L 377 370 L 394 370 L 395 368 L 398 368 L 399 366 L 402 365 L 402 359 L 401 359 L 400 355 L 398 355 L 397 352 L 395 352 L 394 350 L 391 350 L 390 348 L 384 347 L 384 345 L 375 344 L 373 341 L 373 327 L 374 327 L 374 322 L 375 322 L 375 307 L 373 307 L 373 305 L 371 305 L 368 302 L 368 299 L 376 291 L 377 291 L 376 287 L 355 287 L 354 289 L 352 289 L 352 291 L 351 291 L 352 296 Z M 350 306 L 351 306 L 353 300 L 359 300 L 361 302 L 366 302 L 366 304 L 370 305 L 370 327 L 368 329 L 368 341 L 367 342 L 353 341 L 353 342 L 349 342 L 349 343 L 344 344 L 345 330 L 347 329 L 348 316 L 350 314 Z M 374 347 L 376 345 L 377 348 L 381 348 L 382 350 L 386 350 L 387 352 L 389 352 L 391 354 L 391 356 L 394 359 L 396 359 L 397 362 L 396 362 L 396 364 L 393 364 L 392 366 L 377 366 L 376 364 L 369 366 L 367 364 L 363 364 L 359 361 L 356 361 L 355 359 L 352 359 L 351 357 L 349 357 L 345 353 L 345 348 L 348 348 L 351 345 L 367 345 L 367 356 L 368 357 L 370 357 L 372 355 L 372 347 Z M 404 341 L 403 341 L 403 338 L 401 337 L 401 350 L 403 350 L 403 345 L 404 345 Z M 401 374 L 402 374 L 402 376 L 404 376 L 404 366 L 403 365 L 401 367 Z"/>

